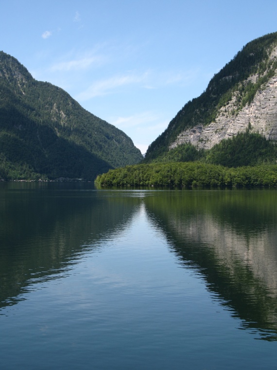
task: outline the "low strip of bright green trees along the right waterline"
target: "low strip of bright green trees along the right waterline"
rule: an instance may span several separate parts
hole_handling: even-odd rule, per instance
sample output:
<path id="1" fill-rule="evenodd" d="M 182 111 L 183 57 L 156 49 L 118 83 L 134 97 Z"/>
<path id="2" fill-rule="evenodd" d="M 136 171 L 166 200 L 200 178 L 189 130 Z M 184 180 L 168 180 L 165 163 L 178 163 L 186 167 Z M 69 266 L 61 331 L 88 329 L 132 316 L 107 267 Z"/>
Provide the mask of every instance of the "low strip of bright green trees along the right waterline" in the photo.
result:
<path id="1" fill-rule="evenodd" d="M 276 186 L 277 165 L 224 167 L 200 162 L 126 166 L 98 175 L 99 186 Z"/>

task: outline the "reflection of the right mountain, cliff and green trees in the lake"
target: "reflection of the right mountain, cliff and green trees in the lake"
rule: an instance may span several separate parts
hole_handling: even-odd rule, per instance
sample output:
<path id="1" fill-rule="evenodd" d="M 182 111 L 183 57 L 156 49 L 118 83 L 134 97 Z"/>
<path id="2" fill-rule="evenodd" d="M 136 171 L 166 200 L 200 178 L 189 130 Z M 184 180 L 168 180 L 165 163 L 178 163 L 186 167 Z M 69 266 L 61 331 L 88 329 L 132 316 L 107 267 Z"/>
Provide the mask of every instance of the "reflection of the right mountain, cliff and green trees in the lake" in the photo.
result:
<path id="1" fill-rule="evenodd" d="M 167 193 L 145 200 L 185 267 L 242 319 L 242 328 L 277 339 L 275 191 Z"/>

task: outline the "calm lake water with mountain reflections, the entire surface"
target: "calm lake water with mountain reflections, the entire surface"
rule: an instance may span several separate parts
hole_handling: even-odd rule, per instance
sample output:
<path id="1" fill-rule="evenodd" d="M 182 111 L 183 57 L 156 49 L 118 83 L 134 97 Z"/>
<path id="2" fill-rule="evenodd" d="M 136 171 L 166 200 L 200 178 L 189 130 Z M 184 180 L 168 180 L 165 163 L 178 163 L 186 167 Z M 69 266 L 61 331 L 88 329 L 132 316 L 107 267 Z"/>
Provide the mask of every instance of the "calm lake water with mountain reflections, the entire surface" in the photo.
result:
<path id="1" fill-rule="evenodd" d="M 0 184 L 0 369 L 276 369 L 276 190 Z"/>

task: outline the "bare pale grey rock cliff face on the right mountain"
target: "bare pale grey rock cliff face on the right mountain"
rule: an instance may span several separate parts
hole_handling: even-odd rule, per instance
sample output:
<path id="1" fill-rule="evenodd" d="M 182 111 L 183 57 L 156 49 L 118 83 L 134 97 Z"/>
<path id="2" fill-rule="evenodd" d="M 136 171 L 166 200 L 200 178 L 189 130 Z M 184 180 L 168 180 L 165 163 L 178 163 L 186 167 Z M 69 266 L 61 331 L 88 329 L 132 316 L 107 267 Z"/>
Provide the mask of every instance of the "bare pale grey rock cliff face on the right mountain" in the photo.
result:
<path id="1" fill-rule="evenodd" d="M 277 59 L 277 47 L 272 51 L 270 59 Z M 258 77 L 258 74 L 253 74 L 242 83 L 256 83 Z M 190 142 L 198 148 L 209 149 L 248 127 L 251 127 L 252 132 L 259 132 L 267 139 L 277 140 L 277 71 L 261 86 L 252 103 L 246 104 L 241 111 L 237 111 L 238 99 L 239 93 L 235 92 L 229 103 L 219 110 L 214 122 L 207 126 L 198 124 L 185 129 L 169 148 Z"/>

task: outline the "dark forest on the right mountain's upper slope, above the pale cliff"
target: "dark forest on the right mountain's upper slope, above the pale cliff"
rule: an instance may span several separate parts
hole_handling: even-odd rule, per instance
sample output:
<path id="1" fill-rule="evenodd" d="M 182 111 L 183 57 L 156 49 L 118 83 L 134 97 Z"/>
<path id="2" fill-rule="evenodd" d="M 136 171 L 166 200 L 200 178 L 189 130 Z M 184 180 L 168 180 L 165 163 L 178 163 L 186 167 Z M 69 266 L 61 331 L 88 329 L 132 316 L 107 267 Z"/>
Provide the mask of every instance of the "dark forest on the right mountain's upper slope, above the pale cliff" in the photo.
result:
<path id="1" fill-rule="evenodd" d="M 150 163 L 169 150 L 183 130 L 197 124 L 208 125 L 214 122 L 219 110 L 236 96 L 236 115 L 244 106 L 251 103 L 256 92 L 269 81 L 277 69 L 276 59 L 270 53 L 277 45 L 277 32 L 259 37 L 246 44 L 234 58 L 215 74 L 207 89 L 192 99 L 176 114 L 167 129 L 149 146 L 145 163 Z M 247 80 L 258 74 L 256 83 Z"/>

